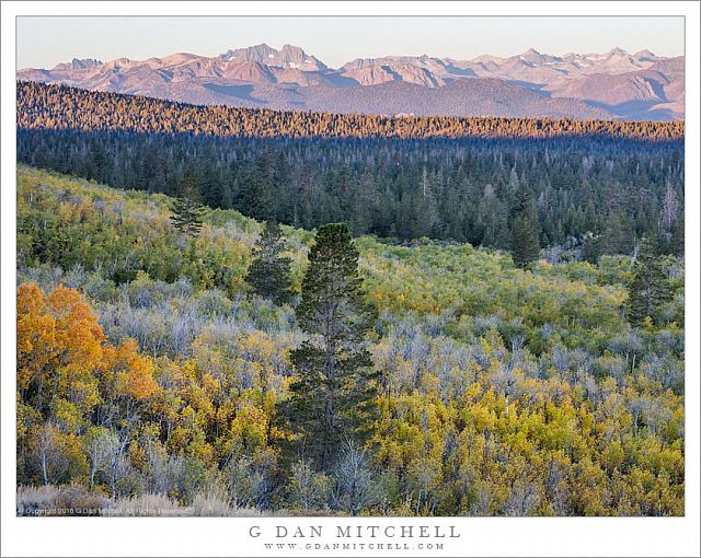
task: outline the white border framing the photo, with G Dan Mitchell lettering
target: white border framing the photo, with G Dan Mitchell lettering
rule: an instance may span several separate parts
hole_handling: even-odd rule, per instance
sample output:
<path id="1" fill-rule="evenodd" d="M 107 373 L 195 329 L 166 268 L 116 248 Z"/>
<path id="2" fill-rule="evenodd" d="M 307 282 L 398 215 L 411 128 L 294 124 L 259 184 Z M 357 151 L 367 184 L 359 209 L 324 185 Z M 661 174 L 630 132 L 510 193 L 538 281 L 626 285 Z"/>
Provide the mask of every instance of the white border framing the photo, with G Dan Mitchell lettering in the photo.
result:
<path id="1" fill-rule="evenodd" d="M 275 556 L 251 525 L 457 525 L 433 556 L 699 556 L 699 3 L 697 2 L 3 2 L 2 27 L 2 556 Z M 676 519 L 79 519 L 16 518 L 15 16 L 18 15 L 685 15 L 686 16 L 686 516 Z M 268 537 L 266 540 L 271 540 Z M 429 539 L 438 542 L 438 539 Z M 308 540 L 317 542 L 317 540 Z M 333 539 L 331 542 L 338 542 Z M 368 540 L 366 540 L 367 543 Z M 384 540 L 389 542 L 389 540 Z M 414 539 L 413 543 L 417 543 Z M 283 554 L 280 551 L 279 554 Z M 287 553 L 329 556 L 327 550 Z M 417 556 L 350 550 L 341 556 Z"/>

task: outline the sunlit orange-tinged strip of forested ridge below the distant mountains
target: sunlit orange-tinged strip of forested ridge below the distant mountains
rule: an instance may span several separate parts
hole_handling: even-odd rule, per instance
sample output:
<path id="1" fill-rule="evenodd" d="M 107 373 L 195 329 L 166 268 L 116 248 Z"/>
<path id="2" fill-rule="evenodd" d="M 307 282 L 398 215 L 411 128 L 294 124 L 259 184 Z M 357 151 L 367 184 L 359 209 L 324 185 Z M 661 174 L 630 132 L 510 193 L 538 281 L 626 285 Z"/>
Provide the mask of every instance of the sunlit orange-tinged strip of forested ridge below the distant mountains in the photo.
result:
<path id="1" fill-rule="evenodd" d="M 683 139 L 683 121 L 383 116 L 197 106 L 141 95 L 18 82 L 18 127 L 218 137 Z"/>

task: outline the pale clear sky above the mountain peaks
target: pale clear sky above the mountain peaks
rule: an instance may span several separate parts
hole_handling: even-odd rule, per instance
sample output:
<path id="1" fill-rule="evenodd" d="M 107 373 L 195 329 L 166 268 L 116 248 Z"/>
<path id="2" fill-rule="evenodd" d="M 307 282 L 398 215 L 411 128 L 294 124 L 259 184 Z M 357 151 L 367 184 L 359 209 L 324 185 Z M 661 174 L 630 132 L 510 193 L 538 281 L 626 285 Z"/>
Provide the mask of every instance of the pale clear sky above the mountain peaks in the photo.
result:
<path id="1" fill-rule="evenodd" d="M 142 60 L 173 53 L 216 56 L 267 43 L 302 47 L 332 68 L 355 58 L 429 55 L 469 59 L 551 55 L 683 54 L 682 18 L 18 18 L 18 68 L 72 58 Z"/>

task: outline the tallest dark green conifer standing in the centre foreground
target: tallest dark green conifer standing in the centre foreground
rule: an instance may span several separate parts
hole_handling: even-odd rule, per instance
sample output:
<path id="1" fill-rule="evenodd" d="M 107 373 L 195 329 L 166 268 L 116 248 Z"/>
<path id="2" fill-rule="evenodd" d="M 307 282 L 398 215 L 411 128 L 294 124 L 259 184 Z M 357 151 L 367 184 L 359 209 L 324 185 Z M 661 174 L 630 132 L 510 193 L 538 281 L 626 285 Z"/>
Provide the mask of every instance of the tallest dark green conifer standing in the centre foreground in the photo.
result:
<path id="1" fill-rule="evenodd" d="M 318 470 L 334 467 L 348 439 L 361 442 L 370 434 L 377 374 L 365 336 L 372 317 L 347 226 L 321 226 L 297 307 L 299 326 L 310 337 L 290 354 L 297 375 L 283 409 L 299 453 Z"/>

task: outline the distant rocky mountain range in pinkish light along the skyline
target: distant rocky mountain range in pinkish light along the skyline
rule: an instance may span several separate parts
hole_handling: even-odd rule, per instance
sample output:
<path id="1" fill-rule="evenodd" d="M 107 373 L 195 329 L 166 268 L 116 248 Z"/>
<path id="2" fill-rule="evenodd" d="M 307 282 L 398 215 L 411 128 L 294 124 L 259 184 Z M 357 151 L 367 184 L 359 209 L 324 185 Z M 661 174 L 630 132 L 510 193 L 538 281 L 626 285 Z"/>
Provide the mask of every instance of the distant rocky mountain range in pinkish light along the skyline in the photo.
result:
<path id="1" fill-rule="evenodd" d="M 358 58 L 333 69 L 299 47 L 262 44 L 217 57 L 174 54 L 27 68 L 18 80 L 199 105 L 388 115 L 683 118 L 683 57 L 614 48 L 551 56 L 529 49 L 471 60 Z"/>

